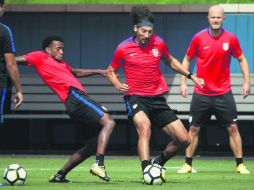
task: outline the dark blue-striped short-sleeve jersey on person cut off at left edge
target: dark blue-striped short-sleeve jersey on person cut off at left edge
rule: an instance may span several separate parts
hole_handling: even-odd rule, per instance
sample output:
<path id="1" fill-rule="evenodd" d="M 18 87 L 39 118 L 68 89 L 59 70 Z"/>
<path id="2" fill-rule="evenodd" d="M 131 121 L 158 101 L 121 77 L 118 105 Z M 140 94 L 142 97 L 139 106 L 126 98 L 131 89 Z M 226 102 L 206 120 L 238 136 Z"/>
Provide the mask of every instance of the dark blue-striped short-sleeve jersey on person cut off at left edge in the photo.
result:
<path id="1" fill-rule="evenodd" d="M 7 69 L 5 53 L 16 53 L 11 29 L 0 23 L 0 87 L 6 87 Z"/>

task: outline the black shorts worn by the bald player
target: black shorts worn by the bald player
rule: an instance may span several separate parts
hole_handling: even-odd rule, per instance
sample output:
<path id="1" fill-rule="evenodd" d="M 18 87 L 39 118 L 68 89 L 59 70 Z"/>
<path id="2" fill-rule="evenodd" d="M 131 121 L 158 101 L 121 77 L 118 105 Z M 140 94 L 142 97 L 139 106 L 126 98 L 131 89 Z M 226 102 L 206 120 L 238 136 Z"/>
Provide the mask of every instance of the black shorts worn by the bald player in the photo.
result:
<path id="1" fill-rule="evenodd" d="M 219 96 L 194 93 L 190 107 L 190 124 L 202 127 L 214 115 L 221 125 L 227 127 L 237 121 L 237 109 L 232 92 Z"/>

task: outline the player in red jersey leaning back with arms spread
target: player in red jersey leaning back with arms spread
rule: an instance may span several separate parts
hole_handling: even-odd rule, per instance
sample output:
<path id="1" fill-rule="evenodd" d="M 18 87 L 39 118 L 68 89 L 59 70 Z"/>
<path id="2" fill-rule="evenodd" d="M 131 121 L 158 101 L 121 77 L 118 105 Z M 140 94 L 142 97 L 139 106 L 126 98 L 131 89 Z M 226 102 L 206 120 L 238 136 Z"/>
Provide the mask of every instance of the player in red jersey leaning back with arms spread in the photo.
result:
<path id="1" fill-rule="evenodd" d="M 96 152 L 96 162 L 90 173 L 109 181 L 104 167 L 104 152 L 115 122 L 107 109 L 91 99 L 76 77 L 106 75 L 106 70 L 74 69 L 63 60 L 64 42 L 58 36 L 49 36 L 43 40 L 43 51 L 34 51 L 16 58 L 17 62 L 28 63 L 34 67 L 44 83 L 48 85 L 65 104 L 67 113 L 76 123 L 87 130 L 102 126 L 99 134 L 91 136 L 83 148 L 75 152 L 68 162 L 50 179 L 49 182 L 68 183 L 66 175 L 75 166 Z M 96 151 L 97 148 L 97 151 Z"/>

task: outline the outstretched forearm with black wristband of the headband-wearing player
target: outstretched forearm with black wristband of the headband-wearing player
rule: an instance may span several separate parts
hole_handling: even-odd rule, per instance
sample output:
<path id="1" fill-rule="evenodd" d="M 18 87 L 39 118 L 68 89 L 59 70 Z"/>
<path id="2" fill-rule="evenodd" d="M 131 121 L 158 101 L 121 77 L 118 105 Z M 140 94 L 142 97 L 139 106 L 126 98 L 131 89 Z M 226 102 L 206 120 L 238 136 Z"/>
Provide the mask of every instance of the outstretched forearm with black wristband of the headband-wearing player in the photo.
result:
<path id="1" fill-rule="evenodd" d="M 170 55 L 169 58 L 165 60 L 165 63 L 168 64 L 176 72 L 191 79 L 194 83 L 198 84 L 201 88 L 204 86 L 204 80 L 202 78 L 198 78 L 194 76 L 191 72 L 189 72 L 186 68 L 184 68 L 184 66 L 172 55 Z"/>

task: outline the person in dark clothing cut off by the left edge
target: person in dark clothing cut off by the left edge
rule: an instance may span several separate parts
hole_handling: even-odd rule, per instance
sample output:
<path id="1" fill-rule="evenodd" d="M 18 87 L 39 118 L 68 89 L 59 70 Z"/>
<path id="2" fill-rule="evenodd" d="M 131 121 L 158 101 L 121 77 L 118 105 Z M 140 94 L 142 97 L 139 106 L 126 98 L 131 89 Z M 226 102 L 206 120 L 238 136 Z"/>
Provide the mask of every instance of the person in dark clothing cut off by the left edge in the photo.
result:
<path id="1" fill-rule="evenodd" d="M 0 0 L 0 17 L 4 14 L 4 0 Z M 9 74 L 16 88 L 14 98 L 15 108 L 18 108 L 24 98 L 20 84 L 20 76 L 14 53 L 15 45 L 11 29 L 0 23 L 0 125 L 3 124 L 4 102 L 6 98 L 7 75 Z"/>

